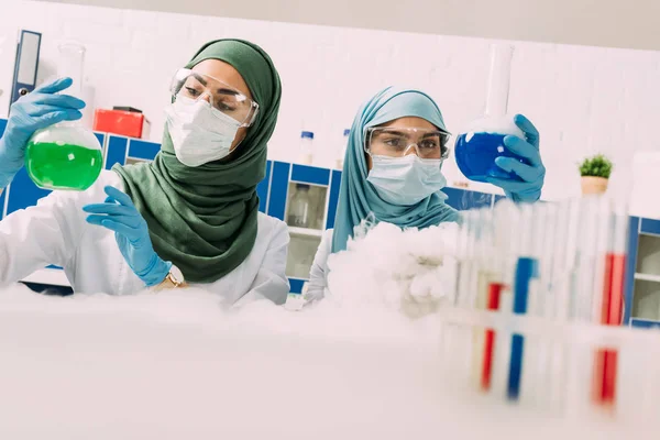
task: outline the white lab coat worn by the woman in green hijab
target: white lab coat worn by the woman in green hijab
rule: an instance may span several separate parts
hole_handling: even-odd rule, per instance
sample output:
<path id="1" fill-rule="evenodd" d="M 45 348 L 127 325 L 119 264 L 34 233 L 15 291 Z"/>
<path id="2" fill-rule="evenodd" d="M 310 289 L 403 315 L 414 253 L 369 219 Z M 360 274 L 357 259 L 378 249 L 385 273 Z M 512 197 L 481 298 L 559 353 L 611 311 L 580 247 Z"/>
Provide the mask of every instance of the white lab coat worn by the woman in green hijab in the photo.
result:
<path id="1" fill-rule="evenodd" d="M 106 199 L 103 188 L 123 190 L 114 172 L 103 170 L 86 191 L 53 191 L 35 207 L 0 222 L 0 285 L 18 282 L 48 264 L 64 267 L 76 293 L 134 294 L 144 283 L 121 255 L 114 233 L 86 222 L 82 206 Z M 258 213 L 256 242 L 248 258 L 211 284 L 190 284 L 220 295 L 228 304 L 267 298 L 276 304 L 289 292 L 285 275 L 289 235 L 286 224 Z"/>

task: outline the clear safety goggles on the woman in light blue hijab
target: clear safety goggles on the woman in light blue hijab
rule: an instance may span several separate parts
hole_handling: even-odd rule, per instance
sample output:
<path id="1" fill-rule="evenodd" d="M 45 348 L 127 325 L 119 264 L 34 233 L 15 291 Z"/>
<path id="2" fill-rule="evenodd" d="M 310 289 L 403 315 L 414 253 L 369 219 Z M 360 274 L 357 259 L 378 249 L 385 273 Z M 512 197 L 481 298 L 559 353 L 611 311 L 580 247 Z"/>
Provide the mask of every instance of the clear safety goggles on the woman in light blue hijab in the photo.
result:
<path id="1" fill-rule="evenodd" d="M 366 130 L 364 150 L 373 155 L 404 157 L 415 148 L 420 158 L 446 160 L 450 135 L 437 130 L 374 127 Z"/>

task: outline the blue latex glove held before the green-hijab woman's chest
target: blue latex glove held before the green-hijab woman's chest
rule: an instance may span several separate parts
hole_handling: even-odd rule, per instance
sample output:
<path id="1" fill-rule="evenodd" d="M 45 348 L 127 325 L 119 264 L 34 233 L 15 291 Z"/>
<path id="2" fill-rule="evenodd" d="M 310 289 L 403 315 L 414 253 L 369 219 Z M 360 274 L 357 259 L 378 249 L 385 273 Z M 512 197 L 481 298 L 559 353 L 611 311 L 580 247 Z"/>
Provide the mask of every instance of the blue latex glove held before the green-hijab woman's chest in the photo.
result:
<path id="1" fill-rule="evenodd" d="M 106 202 L 82 207 L 87 222 L 107 228 L 114 232 L 119 250 L 135 275 L 147 287 L 161 284 L 172 267 L 172 263 L 163 261 L 154 251 L 148 237 L 146 221 L 131 198 L 119 189 L 107 186 Z"/>

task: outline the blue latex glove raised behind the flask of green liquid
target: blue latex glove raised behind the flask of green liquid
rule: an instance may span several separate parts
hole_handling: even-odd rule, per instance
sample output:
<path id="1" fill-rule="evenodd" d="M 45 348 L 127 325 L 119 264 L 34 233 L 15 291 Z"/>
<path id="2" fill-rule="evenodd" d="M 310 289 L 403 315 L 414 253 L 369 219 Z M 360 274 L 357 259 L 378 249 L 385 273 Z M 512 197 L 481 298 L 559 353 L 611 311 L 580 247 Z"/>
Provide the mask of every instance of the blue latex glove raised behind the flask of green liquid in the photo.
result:
<path id="1" fill-rule="evenodd" d="M 79 110 L 85 108 L 84 101 L 67 95 L 55 95 L 72 84 L 70 78 L 57 79 L 38 87 L 11 106 L 4 135 L 0 139 L 0 188 L 9 185 L 23 167 L 25 147 L 35 131 L 82 118 Z"/>

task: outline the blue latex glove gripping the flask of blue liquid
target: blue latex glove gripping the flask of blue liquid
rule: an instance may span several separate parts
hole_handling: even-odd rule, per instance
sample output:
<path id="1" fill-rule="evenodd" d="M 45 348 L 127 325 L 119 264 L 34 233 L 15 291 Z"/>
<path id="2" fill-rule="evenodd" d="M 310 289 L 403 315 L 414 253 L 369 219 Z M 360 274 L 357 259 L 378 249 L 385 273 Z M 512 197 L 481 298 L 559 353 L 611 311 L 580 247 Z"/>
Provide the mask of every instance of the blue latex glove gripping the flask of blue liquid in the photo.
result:
<path id="1" fill-rule="evenodd" d="M 541 197 L 546 178 L 546 167 L 539 152 L 539 132 L 522 114 L 516 114 L 514 122 L 525 133 L 525 140 L 518 136 L 506 136 L 504 146 L 512 153 L 525 157 L 529 165 L 521 164 L 514 157 L 497 157 L 495 164 L 505 172 L 516 173 L 522 182 L 501 178 L 496 175 L 488 177 L 488 182 L 504 189 L 506 197 L 516 202 L 534 202 Z"/>

